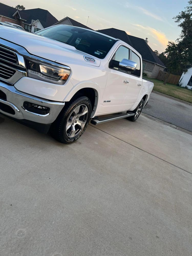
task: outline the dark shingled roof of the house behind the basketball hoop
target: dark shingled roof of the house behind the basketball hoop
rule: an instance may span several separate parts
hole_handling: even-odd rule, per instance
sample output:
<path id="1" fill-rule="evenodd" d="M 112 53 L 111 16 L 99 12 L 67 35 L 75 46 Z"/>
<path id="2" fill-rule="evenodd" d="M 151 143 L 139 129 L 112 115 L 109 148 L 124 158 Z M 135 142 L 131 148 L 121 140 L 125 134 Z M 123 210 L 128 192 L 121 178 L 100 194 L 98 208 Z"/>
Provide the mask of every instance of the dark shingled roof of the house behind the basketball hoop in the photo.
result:
<path id="1" fill-rule="evenodd" d="M 0 15 L 14 19 L 13 15 L 16 15 L 17 13 L 20 16 L 20 18 L 23 19 L 24 22 L 27 24 L 31 24 L 32 19 L 38 19 L 44 28 L 49 27 L 54 23 L 58 22 L 58 20 L 48 10 L 35 8 L 20 11 L 14 7 L 0 3 Z"/>

